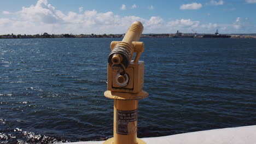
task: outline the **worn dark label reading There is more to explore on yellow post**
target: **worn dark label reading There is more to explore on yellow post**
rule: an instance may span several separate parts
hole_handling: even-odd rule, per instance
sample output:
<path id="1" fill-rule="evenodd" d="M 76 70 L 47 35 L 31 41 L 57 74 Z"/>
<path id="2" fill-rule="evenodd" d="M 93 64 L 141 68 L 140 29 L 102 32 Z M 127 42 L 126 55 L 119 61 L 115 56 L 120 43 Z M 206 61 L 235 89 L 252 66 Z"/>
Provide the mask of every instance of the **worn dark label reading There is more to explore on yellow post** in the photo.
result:
<path id="1" fill-rule="evenodd" d="M 132 111 L 117 110 L 117 133 L 129 135 L 137 132 L 138 109 Z"/>

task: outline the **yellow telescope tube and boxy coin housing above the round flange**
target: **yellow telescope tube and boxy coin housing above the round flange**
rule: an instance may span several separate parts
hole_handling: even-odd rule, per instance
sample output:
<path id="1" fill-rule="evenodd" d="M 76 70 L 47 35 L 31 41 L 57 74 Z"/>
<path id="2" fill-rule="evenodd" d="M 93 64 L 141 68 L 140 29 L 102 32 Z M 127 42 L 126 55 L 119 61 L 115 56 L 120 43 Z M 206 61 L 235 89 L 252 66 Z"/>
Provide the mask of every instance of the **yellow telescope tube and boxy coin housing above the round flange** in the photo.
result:
<path id="1" fill-rule="evenodd" d="M 138 93 L 144 85 L 144 62 L 138 61 L 144 51 L 139 42 L 143 25 L 133 22 L 122 41 L 112 41 L 108 57 L 108 91 Z M 133 54 L 136 57 L 132 61 Z"/>

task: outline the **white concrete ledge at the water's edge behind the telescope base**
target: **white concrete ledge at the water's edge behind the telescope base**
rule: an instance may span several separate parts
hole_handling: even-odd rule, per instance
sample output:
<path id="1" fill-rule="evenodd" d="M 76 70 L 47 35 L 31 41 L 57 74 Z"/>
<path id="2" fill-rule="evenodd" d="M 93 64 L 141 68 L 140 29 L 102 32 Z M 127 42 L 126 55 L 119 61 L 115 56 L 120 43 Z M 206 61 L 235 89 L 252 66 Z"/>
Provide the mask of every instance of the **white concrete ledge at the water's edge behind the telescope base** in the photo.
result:
<path id="1" fill-rule="evenodd" d="M 255 144 L 256 125 L 197 131 L 193 133 L 177 134 L 162 137 L 143 138 L 147 144 Z M 71 142 L 71 144 L 102 144 L 103 141 Z"/>

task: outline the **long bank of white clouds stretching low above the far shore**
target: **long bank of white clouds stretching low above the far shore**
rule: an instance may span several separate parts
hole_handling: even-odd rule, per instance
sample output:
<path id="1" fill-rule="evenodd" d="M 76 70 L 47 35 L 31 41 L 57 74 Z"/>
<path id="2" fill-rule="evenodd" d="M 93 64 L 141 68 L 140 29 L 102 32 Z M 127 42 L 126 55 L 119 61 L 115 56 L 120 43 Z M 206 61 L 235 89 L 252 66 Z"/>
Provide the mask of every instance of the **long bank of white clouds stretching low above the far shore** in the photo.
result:
<path id="1" fill-rule="evenodd" d="M 143 33 L 191 33 L 191 29 L 199 33 L 214 33 L 220 29 L 223 33 L 249 33 L 256 29 L 250 19 L 237 17 L 231 24 L 218 25 L 217 23 L 201 23 L 192 19 L 176 19 L 165 21 L 160 16 L 151 16 L 143 19 L 138 16 L 120 16 L 112 11 L 98 13 L 96 10 L 84 10 L 83 13 L 69 11 L 67 14 L 56 10 L 46 0 L 39 0 L 37 4 L 23 7 L 7 19 L 0 18 L 0 34 L 120 34 L 134 21 L 141 21 Z M 255 30 L 254 30 L 255 32 Z"/>

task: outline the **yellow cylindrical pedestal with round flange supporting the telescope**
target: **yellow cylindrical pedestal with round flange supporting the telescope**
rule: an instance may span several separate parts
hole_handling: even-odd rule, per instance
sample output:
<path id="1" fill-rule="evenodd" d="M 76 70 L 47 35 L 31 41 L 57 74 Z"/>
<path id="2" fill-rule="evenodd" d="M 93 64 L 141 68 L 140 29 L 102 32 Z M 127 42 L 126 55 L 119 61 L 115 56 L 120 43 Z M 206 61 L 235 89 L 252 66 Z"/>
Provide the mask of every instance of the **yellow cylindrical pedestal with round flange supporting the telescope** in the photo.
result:
<path id="1" fill-rule="evenodd" d="M 104 144 L 146 144 L 137 138 L 138 100 L 148 93 L 122 93 L 106 91 L 104 96 L 114 99 L 114 137 Z"/>

